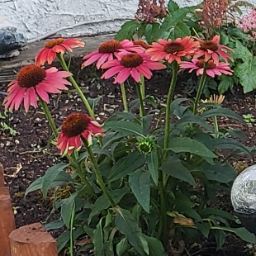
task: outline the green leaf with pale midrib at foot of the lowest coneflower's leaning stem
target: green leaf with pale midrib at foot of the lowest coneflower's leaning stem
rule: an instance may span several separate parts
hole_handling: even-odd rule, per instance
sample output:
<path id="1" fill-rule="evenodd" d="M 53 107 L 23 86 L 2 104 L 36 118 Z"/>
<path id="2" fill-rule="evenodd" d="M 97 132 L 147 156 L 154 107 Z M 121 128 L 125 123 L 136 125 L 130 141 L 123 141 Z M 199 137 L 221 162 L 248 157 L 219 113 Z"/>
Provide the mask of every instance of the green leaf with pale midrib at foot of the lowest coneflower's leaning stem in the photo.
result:
<path id="1" fill-rule="evenodd" d="M 126 235 L 129 243 L 138 251 L 142 256 L 145 256 L 144 249 L 140 242 L 140 229 L 136 220 L 130 214 L 130 211 L 116 207 L 116 228 L 121 234 Z"/>

